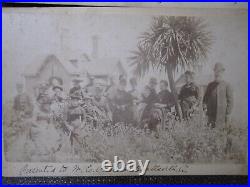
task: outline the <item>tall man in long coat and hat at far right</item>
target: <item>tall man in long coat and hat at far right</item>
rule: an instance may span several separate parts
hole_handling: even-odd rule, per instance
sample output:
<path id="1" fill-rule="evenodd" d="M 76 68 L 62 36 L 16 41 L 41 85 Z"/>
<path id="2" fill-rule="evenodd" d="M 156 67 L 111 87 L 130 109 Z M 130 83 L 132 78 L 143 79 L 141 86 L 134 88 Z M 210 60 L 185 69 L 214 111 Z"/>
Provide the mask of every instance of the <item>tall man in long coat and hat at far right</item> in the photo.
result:
<path id="1" fill-rule="evenodd" d="M 203 98 L 207 109 L 208 125 L 211 128 L 224 128 L 229 122 L 233 108 L 233 91 L 229 83 L 223 80 L 225 68 L 223 64 L 214 66 L 214 81 L 208 84 Z"/>

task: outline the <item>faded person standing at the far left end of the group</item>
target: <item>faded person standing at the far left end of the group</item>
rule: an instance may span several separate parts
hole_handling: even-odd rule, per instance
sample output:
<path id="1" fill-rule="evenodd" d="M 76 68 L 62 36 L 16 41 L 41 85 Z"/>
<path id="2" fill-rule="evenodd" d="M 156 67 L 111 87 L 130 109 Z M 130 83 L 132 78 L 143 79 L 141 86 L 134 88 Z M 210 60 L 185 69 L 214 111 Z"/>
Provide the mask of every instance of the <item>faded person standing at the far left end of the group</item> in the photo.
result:
<path id="1" fill-rule="evenodd" d="M 13 109 L 20 117 L 32 117 L 33 105 L 28 94 L 23 91 L 23 84 L 16 85 L 17 96 L 14 98 Z"/>

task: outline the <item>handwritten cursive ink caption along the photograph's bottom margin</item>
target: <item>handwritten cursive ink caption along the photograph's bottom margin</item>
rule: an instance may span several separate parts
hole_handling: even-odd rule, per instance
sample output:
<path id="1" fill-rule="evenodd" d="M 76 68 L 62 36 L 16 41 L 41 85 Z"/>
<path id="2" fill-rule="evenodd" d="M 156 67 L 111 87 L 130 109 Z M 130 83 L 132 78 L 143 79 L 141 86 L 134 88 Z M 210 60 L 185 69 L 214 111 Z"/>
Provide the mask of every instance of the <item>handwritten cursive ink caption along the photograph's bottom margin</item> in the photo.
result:
<path id="1" fill-rule="evenodd" d="M 107 173 L 101 167 L 101 164 L 32 164 L 26 163 L 19 167 L 19 176 L 91 176 L 91 175 L 105 175 Z M 158 173 L 164 175 L 181 175 L 188 173 L 189 165 L 182 164 L 169 164 L 169 165 L 159 165 L 159 164 L 149 164 L 147 168 L 147 173 Z M 111 170 L 109 173 L 116 175 L 118 173 L 128 173 L 128 171 L 114 171 Z M 140 167 L 137 167 L 134 172 L 139 173 Z"/>

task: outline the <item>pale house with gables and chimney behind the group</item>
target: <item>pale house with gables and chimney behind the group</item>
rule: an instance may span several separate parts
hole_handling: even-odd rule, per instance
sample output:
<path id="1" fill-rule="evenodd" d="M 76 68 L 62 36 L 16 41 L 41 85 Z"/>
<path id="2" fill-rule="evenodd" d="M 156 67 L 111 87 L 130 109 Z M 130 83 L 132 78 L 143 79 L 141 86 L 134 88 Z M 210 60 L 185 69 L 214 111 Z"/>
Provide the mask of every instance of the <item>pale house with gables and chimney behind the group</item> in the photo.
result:
<path id="1" fill-rule="evenodd" d="M 29 64 L 23 73 L 26 91 L 34 93 L 37 85 L 48 82 L 51 77 L 60 78 L 64 90 L 68 92 L 72 87 L 72 80 L 75 78 L 82 79 L 83 84 L 88 83 L 89 77 L 100 84 L 108 84 L 110 76 L 118 78 L 121 74 L 126 75 L 120 59 L 99 57 L 97 37 L 93 37 L 92 40 L 92 55 L 82 53 L 80 55 L 60 55 L 59 57 L 50 54 Z"/>

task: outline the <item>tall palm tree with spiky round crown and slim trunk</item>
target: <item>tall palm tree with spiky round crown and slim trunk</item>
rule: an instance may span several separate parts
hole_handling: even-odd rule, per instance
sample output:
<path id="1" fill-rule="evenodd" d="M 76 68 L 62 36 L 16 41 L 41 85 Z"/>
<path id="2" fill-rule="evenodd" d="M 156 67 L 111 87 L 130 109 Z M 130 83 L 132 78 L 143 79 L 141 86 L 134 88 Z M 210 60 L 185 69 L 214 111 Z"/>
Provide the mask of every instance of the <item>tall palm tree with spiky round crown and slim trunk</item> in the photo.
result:
<path id="1" fill-rule="evenodd" d="M 144 76 L 150 67 L 167 73 L 179 115 L 174 73 L 194 68 L 201 58 L 207 57 L 212 40 L 206 28 L 201 18 L 154 17 L 150 30 L 141 35 L 138 50 L 130 57 L 138 76 Z"/>

